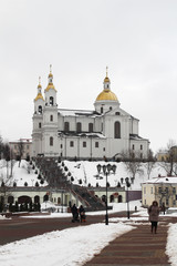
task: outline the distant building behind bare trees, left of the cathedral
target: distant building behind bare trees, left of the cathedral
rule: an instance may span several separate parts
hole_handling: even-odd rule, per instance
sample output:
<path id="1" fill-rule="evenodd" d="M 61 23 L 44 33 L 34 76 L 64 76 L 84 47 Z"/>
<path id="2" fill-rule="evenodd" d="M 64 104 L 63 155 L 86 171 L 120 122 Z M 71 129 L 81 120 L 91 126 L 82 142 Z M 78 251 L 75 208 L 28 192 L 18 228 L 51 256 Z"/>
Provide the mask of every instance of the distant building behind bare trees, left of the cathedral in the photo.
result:
<path id="1" fill-rule="evenodd" d="M 22 158 L 31 157 L 32 155 L 32 140 L 31 139 L 20 139 L 18 141 L 9 142 L 11 155 L 13 158 L 18 158 L 19 156 L 19 145 L 23 146 L 23 155 Z"/>

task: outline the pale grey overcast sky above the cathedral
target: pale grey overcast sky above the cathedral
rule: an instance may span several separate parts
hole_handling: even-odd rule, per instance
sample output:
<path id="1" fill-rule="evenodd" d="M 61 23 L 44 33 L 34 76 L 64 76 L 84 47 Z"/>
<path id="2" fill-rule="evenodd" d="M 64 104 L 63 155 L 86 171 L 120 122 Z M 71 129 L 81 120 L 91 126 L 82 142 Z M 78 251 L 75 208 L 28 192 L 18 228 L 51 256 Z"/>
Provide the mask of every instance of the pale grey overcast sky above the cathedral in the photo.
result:
<path id="1" fill-rule="evenodd" d="M 93 110 L 106 65 L 121 108 L 156 152 L 177 141 L 176 0 L 1 0 L 0 134 L 31 137 L 50 64 L 59 108 Z"/>

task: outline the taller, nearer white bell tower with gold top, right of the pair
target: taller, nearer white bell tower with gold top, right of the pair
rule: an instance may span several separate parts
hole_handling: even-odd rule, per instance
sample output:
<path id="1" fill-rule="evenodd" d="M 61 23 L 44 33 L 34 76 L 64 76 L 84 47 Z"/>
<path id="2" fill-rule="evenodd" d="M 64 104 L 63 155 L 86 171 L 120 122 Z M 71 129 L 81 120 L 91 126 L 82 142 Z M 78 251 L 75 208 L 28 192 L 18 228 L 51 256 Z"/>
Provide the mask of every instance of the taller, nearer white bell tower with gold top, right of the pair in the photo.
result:
<path id="1" fill-rule="evenodd" d="M 43 153 L 45 156 L 58 156 L 58 104 L 56 90 L 53 85 L 52 65 L 48 76 L 48 86 L 44 91 L 45 104 L 43 113 Z"/>

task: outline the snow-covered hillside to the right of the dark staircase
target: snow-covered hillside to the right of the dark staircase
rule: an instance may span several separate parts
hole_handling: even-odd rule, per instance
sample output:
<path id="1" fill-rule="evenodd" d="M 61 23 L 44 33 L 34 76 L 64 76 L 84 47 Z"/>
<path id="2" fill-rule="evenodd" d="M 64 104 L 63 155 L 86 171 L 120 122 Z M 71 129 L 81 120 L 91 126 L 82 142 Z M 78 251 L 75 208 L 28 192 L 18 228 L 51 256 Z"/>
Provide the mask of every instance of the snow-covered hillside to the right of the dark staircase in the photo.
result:
<path id="1" fill-rule="evenodd" d="M 116 163 L 116 162 L 108 162 L 111 165 L 116 165 L 116 172 L 115 174 L 111 171 L 110 175 L 107 176 L 107 182 L 111 186 L 116 186 L 118 182 L 122 184 L 122 186 L 125 186 L 125 178 L 128 176 L 131 177 L 132 174 L 127 172 L 126 166 L 123 162 Z M 107 163 L 107 164 L 108 164 Z M 103 174 L 103 171 L 101 171 L 100 176 L 97 173 L 97 164 L 104 165 L 105 162 L 88 162 L 88 161 L 80 161 L 80 162 L 72 162 L 72 161 L 64 161 L 65 166 L 67 166 L 69 172 L 74 177 L 73 184 L 79 184 L 80 180 L 82 180 L 82 185 L 87 186 L 91 184 L 91 186 L 96 186 L 96 183 L 98 183 L 100 186 L 105 186 L 105 176 Z M 60 164 L 61 166 L 61 164 Z M 129 190 L 142 190 L 140 184 L 148 180 L 147 176 L 147 164 L 142 163 L 142 172 L 136 174 L 136 178 L 134 183 L 131 185 Z M 64 168 L 64 167 L 63 167 Z M 63 170 L 64 171 L 64 170 Z M 66 172 L 66 174 L 69 173 Z M 159 166 L 158 163 L 155 164 L 155 167 L 153 168 L 150 173 L 152 177 L 157 177 L 158 175 L 166 175 L 166 172 L 163 167 Z M 70 177 L 69 177 L 70 178 Z M 123 183 L 121 182 L 121 178 L 123 178 Z"/>

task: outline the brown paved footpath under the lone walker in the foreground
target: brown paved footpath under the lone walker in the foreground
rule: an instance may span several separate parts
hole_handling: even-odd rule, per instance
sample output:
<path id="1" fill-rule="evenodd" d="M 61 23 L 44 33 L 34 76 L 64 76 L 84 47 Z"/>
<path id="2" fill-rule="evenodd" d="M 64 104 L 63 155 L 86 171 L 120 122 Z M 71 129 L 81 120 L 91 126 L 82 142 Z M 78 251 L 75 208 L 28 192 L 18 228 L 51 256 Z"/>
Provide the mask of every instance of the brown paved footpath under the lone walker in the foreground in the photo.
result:
<path id="1" fill-rule="evenodd" d="M 164 216 L 158 225 L 157 234 L 152 234 L 147 222 L 138 222 L 135 229 L 111 242 L 85 265 L 169 266 L 170 263 L 165 254 L 168 223 L 177 223 L 177 218 Z"/>

